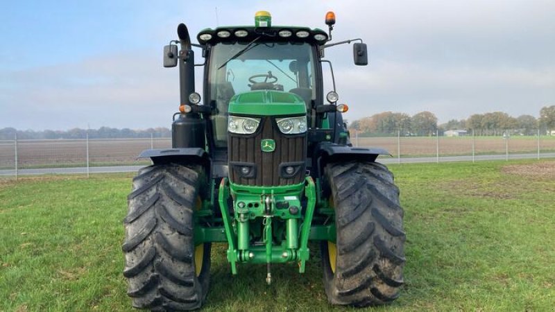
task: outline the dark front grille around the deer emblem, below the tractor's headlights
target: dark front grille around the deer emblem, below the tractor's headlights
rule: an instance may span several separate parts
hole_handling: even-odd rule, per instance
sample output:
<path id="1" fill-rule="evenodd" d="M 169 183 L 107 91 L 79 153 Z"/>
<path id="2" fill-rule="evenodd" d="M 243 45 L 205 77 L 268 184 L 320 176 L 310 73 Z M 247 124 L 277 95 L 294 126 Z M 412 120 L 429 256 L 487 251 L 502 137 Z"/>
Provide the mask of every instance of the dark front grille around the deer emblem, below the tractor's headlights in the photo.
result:
<path id="1" fill-rule="evenodd" d="M 228 134 L 230 181 L 234 184 L 259 187 L 302 182 L 305 179 L 306 133 L 284 135 L 271 117 L 263 118 L 260 128 L 253 135 Z M 275 150 L 270 153 L 263 152 L 260 146 L 262 139 L 273 139 Z M 296 171 L 287 177 L 283 169 L 291 165 Z M 241 173 L 244 166 L 251 168 L 249 174 Z"/>

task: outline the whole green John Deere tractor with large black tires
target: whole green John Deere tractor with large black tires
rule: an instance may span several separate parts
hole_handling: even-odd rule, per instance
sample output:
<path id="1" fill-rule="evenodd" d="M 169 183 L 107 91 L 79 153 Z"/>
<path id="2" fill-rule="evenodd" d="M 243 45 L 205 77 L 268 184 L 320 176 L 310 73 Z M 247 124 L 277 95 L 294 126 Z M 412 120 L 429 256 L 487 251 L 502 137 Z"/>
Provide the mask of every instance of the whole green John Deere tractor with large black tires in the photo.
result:
<path id="1" fill-rule="evenodd" d="M 211 243 L 227 243 L 231 273 L 250 264 L 298 263 L 309 241 L 321 248 L 331 304 L 369 306 L 395 300 L 403 284 L 403 210 L 393 174 L 376 162 L 381 148 L 350 144 L 333 89 L 324 97 L 329 30 L 255 24 L 207 28 L 192 44 L 185 24 L 164 47 L 164 67 L 179 67 L 180 112 L 172 148 L 145 150 L 128 196 L 122 245 L 133 306 L 198 309 L 210 284 Z M 178 49 L 178 45 L 180 49 Z M 194 64 L 193 47 L 203 63 Z M 203 98 L 194 66 L 204 67 Z M 310 244 L 314 246 L 316 244 Z M 262 279 L 263 277 L 261 277 Z"/>

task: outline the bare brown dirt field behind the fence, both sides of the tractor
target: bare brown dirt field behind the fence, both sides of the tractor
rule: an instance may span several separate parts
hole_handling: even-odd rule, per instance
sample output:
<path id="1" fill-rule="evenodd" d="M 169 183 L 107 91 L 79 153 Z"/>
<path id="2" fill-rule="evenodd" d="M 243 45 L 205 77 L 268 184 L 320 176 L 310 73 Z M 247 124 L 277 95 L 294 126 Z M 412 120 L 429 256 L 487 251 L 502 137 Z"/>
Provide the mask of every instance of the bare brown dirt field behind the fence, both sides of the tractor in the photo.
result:
<path id="1" fill-rule="evenodd" d="M 359 137 L 358 146 L 381 147 L 393 156 L 401 157 L 538 153 L 537 137 Z M 89 165 L 110 166 L 137 164 L 136 157 L 142 150 L 170 148 L 171 139 L 94 139 L 89 140 Z M 352 144 L 357 139 L 352 138 Z M 507 145 L 506 145 L 507 144 Z M 555 137 L 541 137 L 540 151 L 555 151 Z M 20 140 L 17 142 L 18 168 L 85 166 L 87 164 L 87 141 L 76 140 Z M 0 168 L 14 168 L 14 141 L 0 141 Z"/>

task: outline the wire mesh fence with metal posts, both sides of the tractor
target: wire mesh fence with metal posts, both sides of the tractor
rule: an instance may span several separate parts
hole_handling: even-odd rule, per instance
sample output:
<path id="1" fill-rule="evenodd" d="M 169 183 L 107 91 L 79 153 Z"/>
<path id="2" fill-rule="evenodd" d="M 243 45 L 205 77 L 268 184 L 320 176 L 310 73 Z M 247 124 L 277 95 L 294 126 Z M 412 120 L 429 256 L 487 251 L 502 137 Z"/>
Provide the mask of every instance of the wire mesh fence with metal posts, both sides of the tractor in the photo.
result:
<path id="1" fill-rule="evenodd" d="M 351 133 L 357 147 L 380 147 L 392 157 L 379 161 L 452 162 L 484 159 L 518 159 L 555 157 L 555 135 L 502 135 L 482 137 L 434 135 L 414 137 L 402 135 L 368 137 Z M 512 132 L 506 132 L 512 133 Z M 0 140 L 0 177 L 48 173 L 133 172 L 150 164 L 137 156 L 149 148 L 171 148 L 170 138 L 145 139 L 17 139 Z"/>

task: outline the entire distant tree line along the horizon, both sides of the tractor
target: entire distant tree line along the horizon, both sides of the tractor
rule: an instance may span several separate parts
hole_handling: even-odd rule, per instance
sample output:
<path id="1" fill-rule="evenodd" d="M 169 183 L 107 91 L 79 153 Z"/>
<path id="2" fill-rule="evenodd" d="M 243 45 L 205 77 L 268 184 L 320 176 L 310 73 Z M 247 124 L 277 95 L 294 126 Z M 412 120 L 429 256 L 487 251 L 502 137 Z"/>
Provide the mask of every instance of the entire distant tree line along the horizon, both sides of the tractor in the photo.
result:
<path id="1" fill-rule="evenodd" d="M 452 119 L 438 125 L 438 119 L 432 112 L 419 112 L 410 116 L 401 112 L 381 112 L 364 117 L 349 124 L 350 130 L 357 130 L 368 135 L 434 135 L 446 130 L 472 130 L 475 135 L 502 135 L 507 130 L 518 131 L 523 135 L 536 135 L 538 129 L 555 130 L 555 105 L 542 107 L 540 118 L 531 115 L 509 116 L 505 112 L 488 112 L 472 114 L 468 119 Z M 0 140 L 15 139 L 126 139 L 126 138 L 161 138 L 171 137 L 171 130 L 164 127 L 132 130 L 129 128 L 101 127 L 99 129 L 73 128 L 70 130 L 17 130 L 0 129 Z"/>

